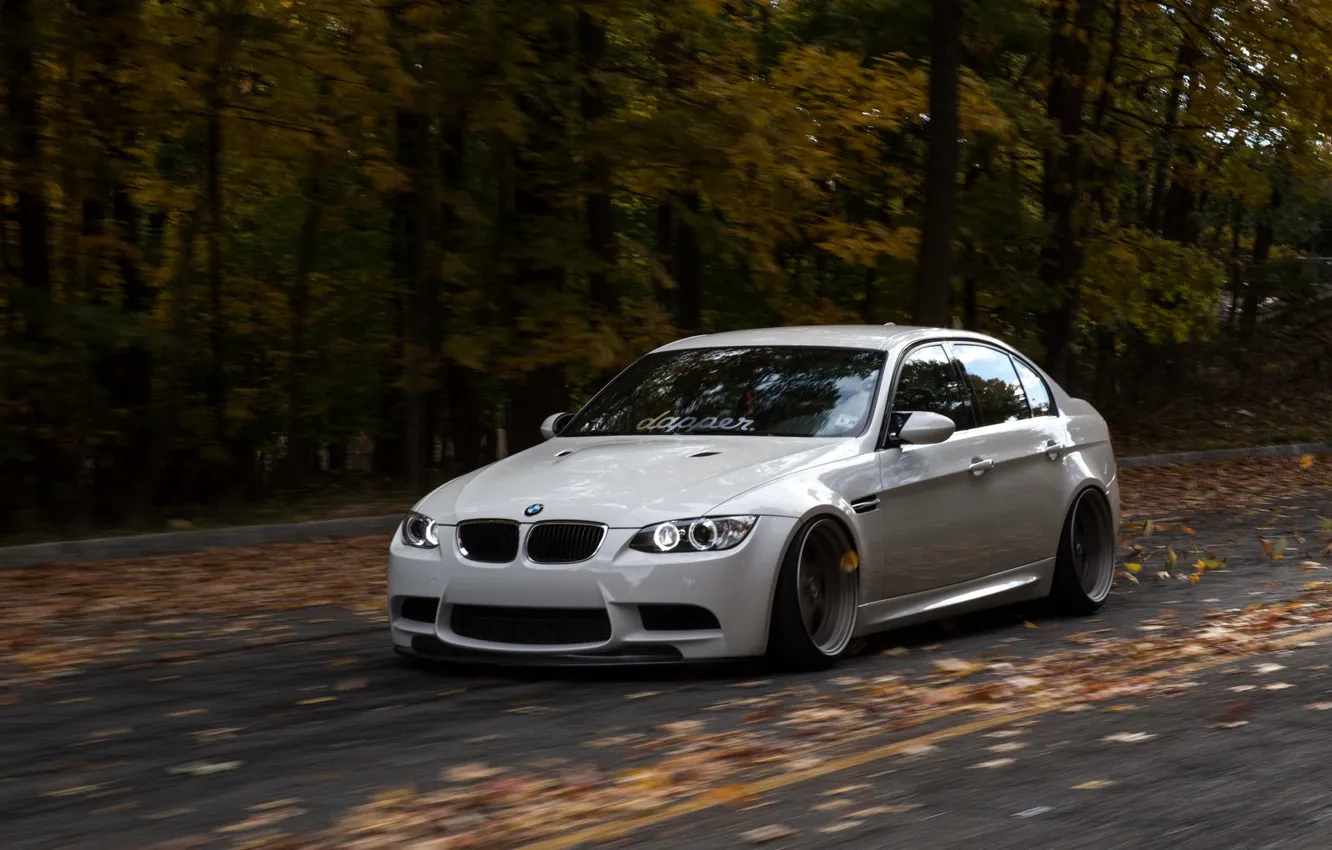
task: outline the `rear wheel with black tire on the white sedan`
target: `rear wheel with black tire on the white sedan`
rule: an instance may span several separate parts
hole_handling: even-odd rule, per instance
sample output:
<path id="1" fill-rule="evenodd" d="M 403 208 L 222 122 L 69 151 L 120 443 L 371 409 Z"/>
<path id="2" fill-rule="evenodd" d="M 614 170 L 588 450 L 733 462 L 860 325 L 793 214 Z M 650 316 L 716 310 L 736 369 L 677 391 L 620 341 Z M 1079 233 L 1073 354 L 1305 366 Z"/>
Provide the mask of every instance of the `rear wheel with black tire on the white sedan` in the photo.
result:
<path id="1" fill-rule="evenodd" d="M 1115 582 L 1115 525 L 1110 502 L 1096 488 L 1078 494 L 1059 533 L 1051 613 L 1086 617 L 1106 604 Z"/>

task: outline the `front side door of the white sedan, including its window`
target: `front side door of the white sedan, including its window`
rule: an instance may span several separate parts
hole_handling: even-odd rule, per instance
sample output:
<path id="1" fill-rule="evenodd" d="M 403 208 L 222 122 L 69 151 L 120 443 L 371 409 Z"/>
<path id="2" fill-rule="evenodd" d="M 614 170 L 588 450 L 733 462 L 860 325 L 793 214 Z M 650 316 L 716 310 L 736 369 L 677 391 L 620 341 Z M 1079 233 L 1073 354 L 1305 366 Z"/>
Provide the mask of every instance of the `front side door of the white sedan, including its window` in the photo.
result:
<path id="1" fill-rule="evenodd" d="M 980 453 L 970 389 L 947 346 L 910 349 L 898 368 L 887 416 L 876 510 L 884 541 L 879 598 L 954 585 L 990 562 L 995 506 L 990 480 L 971 472 Z M 958 430 L 936 445 L 898 445 L 907 413 L 950 417 Z"/>

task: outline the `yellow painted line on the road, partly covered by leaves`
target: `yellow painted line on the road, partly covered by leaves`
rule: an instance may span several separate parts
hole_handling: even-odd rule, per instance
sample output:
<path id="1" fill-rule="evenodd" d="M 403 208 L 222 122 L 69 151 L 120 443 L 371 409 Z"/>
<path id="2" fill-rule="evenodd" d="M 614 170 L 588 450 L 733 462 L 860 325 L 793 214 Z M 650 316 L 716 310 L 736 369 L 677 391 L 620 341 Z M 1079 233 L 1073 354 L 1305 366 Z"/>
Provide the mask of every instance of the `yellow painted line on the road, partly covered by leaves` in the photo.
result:
<path id="1" fill-rule="evenodd" d="M 1268 646 L 1268 649 L 1264 651 L 1288 649 L 1297 643 L 1324 637 L 1332 637 L 1332 625 L 1308 629 L 1304 632 L 1297 632 L 1295 634 L 1288 634 L 1284 638 L 1277 638 L 1276 641 L 1272 641 L 1271 646 Z M 1184 663 L 1177 667 L 1166 667 L 1160 670 L 1160 678 L 1177 678 L 1181 675 L 1191 675 L 1200 670 L 1208 670 L 1211 667 L 1219 667 L 1227 663 L 1247 661 L 1249 658 L 1256 658 L 1261 654 L 1263 653 L 1253 653 L 1252 655 L 1219 655 L 1215 658 L 1192 661 L 1189 663 Z M 1007 726 L 1010 723 L 1015 723 L 1018 721 L 1023 721 L 1031 717 L 1038 717 L 1040 714 L 1050 714 L 1052 711 L 1066 709 L 1070 705 L 1076 705 L 1079 702 L 1087 702 L 1087 699 L 1068 698 L 1043 706 L 1020 709 L 1016 711 L 1006 711 L 1003 714 L 983 717 L 974 721 L 968 721 L 966 723 L 958 723 L 956 726 L 948 726 L 947 729 L 940 729 L 938 731 L 916 735 L 915 738 L 895 741 L 892 743 L 886 743 L 883 746 L 872 747 L 862 753 L 852 753 L 850 755 L 832 758 L 823 762 L 822 765 L 810 767 L 807 770 L 783 773 L 767 777 L 765 779 L 755 779 L 754 782 L 729 786 L 729 789 L 733 793 L 727 794 L 727 797 L 733 799 L 745 799 L 757 794 L 775 791 L 778 789 L 789 787 L 791 785 L 799 785 L 801 782 L 809 782 L 811 779 L 819 779 L 822 777 L 840 773 L 843 770 L 850 770 L 852 767 L 863 767 L 864 765 L 882 761 L 884 758 L 891 758 L 894 755 L 902 755 L 915 747 L 939 743 L 943 741 L 951 741 L 954 738 L 963 738 L 966 735 L 971 735 L 978 731 L 995 729 L 996 726 Z M 939 715 L 943 717 L 948 713 L 950 711 L 940 711 Z M 846 738 L 836 743 L 844 743 L 846 741 L 852 738 Z M 707 809 L 715 809 L 722 805 L 725 805 L 725 801 L 717 799 L 715 797 L 711 797 L 705 793 L 682 803 L 667 806 L 666 809 L 662 809 L 661 811 L 655 811 L 653 814 L 645 814 L 637 818 L 625 818 L 619 821 L 613 821 L 610 823 L 599 823 L 597 826 L 589 826 L 586 829 L 581 829 L 573 833 L 566 833 L 563 835 L 555 835 L 554 838 L 546 838 L 543 841 L 537 841 L 529 845 L 523 845 L 521 850 L 569 850 L 570 847 L 577 847 L 579 845 L 614 841 L 617 838 L 623 838 L 626 835 L 630 835 L 643 827 L 655 826 L 658 823 L 665 823 L 667 821 L 674 821 L 677 818 L 682 818 L 689 814 L 695 814 L 698 811 L 706 811 Z"/>

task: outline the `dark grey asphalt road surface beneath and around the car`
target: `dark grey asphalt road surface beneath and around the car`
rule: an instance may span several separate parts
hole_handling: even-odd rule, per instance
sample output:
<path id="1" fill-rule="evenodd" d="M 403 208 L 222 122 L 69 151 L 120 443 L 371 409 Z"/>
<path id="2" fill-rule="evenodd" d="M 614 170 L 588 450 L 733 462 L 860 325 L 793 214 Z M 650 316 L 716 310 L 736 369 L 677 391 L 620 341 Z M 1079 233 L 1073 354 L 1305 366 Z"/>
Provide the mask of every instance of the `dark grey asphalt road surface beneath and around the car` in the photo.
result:
<path id="1" fill-rule="evenodd" d="M 686 719 L 739 725 L 738 697 L 779 706 L 802 691 L 908 677 L 944 654 L 1036 657 L 1088 629 L 1131 642 L 1164 616 L 1200 622 L 1209 610 L 1292 598 L 1311 580 L 1332 580 L 1320 516 L 1332 516 L 1325 489 L 1276 509 L 1195 514 L 1192 536 L 1139 541 L 1152 553 L 1142 585 L 1120 581 L 1090 622 L 1006 609 L 882 636 L 814 677 L 757 666 L 417 667 L 389 650 L 382 626 L 340 612 L 302 613 L 286 624 L 294 637 L 280 642 L 209 641 L 177 662 L 163 661 L 165 645 L 156 645 L 124 663 L 0 690 L 0 846 L 237 846 L 265 830 L 326 829 L 390 789 L 437 787 L 450 766 L 641 765 L 650 753 L 613 741 L 650 741 Z M 1260 536 L 1284 540 L 1287 557 L 1267 558 Z M 1227 569 L 1200 584 L 1150 580 L 1167 545 L 1181 561 L 1196 545 Z M 898 646 L 906 651 L 883 651 Z M 944 737 L 771 787 L 746 805 L 602 837 L 663 850 L 761 838 L 770 847 L 1327 847 L 1329 647 L 1332 637 L 1237 658 L 1131 707 L 1043 713 L 971 734 L 959 731 L 964 718 L 903 730 L 884 723 L 880 738 L 850 751 Z M 1327 705 L 1308 707 L 1319 703 Z M 282 811 L 276 826 L 256 818 L 274 810 Z"/>

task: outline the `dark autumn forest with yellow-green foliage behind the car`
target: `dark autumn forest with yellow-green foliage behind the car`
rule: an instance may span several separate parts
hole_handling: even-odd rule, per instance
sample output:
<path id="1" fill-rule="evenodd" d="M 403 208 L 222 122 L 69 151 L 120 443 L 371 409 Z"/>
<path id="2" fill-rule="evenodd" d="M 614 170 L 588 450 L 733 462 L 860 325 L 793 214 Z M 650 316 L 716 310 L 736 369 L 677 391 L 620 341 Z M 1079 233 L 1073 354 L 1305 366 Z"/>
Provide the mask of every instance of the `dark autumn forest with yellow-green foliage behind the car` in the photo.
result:
<path id="1" fill-rule="evenodd" d="M 0 532 L 404 508 L 774 324 L 1328 440 L 1329 96 L 1332 0 L 0 0 Z"/>

